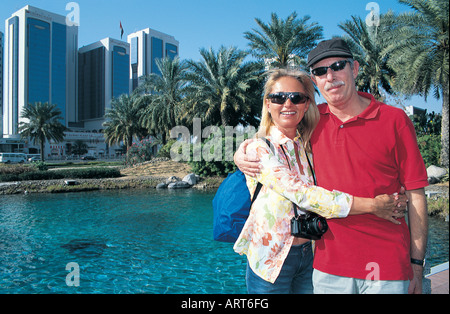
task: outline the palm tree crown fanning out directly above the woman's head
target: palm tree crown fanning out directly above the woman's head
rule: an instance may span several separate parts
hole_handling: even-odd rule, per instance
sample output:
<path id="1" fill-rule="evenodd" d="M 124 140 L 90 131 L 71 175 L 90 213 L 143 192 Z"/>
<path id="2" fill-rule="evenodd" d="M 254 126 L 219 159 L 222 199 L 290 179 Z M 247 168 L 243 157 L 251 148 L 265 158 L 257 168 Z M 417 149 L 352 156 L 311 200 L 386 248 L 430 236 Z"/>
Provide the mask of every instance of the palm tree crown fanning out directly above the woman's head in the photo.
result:
<path id="1" fill-rule="evenodd" d="M 323 38 L 322 26 L 315 22 L 308 24 L 310 18 L 305 15 L 297 19 L 296 12 L 286 20 L 279 19 L 277 14 L 272 13 L 269 24 L 255 18 L 260 29 L 244 33 L 244 37 L 250 41 L 252 55 L 264 62 L 273 60 L 271 65 L 274 67 L 302 64 L 301 60 L 306 59 L 317 41 Z"/>

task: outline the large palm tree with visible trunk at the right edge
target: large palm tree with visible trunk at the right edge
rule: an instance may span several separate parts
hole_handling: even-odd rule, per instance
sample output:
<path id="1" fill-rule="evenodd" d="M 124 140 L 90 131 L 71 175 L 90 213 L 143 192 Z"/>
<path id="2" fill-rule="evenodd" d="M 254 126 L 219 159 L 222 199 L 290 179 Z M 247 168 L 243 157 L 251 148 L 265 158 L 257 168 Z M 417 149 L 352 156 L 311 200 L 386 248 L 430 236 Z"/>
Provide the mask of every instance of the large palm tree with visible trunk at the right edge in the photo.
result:
<path id="1" fill-rule="evenodd" d="M 449 3 L 448 0 L 399 0 L 414 9 L 393 21 L 385 49 L 397 72 L 394 87 L 406 95 L 442 95 L 441 165 L 449 166 Z"/>

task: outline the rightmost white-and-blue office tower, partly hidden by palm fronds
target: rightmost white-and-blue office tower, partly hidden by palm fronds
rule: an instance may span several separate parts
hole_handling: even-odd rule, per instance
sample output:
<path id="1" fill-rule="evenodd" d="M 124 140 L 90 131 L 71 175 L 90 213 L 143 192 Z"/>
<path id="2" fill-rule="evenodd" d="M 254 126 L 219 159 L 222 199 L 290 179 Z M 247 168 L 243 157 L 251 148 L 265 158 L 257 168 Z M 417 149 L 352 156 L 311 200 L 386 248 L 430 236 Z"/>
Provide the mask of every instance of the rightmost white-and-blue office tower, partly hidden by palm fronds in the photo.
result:
<path id="1" fill-rule="evenodd" d="M 156 59 L 175 58 L 179 55 L 179 42 L 173 36 L 146 28 L 128 35 L 130 44 L 130 89 L 133 91 L 139 79 L 150 73 L 161 74 Z"/>

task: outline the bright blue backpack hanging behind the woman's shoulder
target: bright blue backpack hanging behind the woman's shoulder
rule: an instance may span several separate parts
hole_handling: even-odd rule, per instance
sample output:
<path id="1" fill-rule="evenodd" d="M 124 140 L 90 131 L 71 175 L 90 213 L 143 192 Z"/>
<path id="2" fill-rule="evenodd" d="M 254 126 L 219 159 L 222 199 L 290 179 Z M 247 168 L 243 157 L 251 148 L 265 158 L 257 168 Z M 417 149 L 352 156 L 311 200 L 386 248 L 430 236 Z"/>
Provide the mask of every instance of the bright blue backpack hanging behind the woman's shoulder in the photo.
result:
<path id="1" fill-rule="evenodd" d="M 269 140 L 263 138 L 273 151 Z M 258 182 L 253 198 L 247 188 L 245 175 L 240 170 L 229 173 L 213 199 L 213 236 L 220 242 L 236 242 L 250 214 L 250 208 L 261 190 Z"/>

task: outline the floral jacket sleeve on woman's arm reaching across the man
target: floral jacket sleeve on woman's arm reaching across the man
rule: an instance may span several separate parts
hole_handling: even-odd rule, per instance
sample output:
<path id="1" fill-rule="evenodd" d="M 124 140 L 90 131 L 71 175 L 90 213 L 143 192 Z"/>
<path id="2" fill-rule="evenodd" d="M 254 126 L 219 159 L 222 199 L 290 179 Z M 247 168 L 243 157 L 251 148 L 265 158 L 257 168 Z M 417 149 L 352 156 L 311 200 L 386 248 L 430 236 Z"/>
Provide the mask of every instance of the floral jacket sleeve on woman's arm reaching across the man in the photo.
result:
<path id="1" fill-rule="evenodd" d="M 339 191 L 307 185 L 289 166 L 275 156 L 262 140 L 251 143 L 248 151 L 256 153 L 262 169 L 256 180 L 267 188 L 289 199 L 300 208 L 325 218 L 347 217 L 353 197 Z M 280 154 L 278 154 L 280 155 Z"/>

